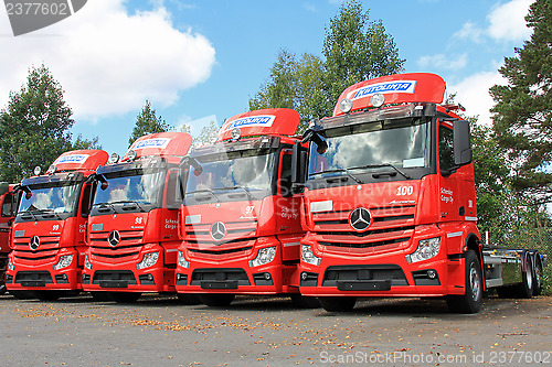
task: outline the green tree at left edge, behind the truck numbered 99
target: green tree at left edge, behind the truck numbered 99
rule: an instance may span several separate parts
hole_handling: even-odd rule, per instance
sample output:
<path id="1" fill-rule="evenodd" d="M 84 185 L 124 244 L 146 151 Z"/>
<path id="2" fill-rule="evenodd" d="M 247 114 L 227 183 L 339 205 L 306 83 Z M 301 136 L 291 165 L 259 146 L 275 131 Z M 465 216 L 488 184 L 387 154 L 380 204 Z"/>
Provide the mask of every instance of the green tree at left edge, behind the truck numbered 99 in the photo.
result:
<path id="1" fill-rule="evenodd" d="M 97 138 L 87 141 L 81 136 L 72 143 L 73 112 L 63 94 L 44 65 L 31 67 L 26 84 L 10 93 L 8 106 L 0 111 L 0 181 L 19 182 L 67 150 L 98 144 Z"/>

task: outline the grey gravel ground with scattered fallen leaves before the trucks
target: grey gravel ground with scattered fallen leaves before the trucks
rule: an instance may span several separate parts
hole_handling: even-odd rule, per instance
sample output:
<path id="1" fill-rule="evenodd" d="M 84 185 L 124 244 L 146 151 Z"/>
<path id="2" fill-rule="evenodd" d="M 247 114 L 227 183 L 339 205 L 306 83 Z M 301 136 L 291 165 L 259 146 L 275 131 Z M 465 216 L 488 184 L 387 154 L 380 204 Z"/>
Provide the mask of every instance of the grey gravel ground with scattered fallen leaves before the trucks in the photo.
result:
<path id="1" fill-rule="evenodd" d="M 552 298 L 486 299 L 479 314 L 443 301 L 375 299 L 352 312 L 285 298 L 227 309 L 146 295 L 134 304 L 0 296 L 2 366 L 552 365 Z"/>

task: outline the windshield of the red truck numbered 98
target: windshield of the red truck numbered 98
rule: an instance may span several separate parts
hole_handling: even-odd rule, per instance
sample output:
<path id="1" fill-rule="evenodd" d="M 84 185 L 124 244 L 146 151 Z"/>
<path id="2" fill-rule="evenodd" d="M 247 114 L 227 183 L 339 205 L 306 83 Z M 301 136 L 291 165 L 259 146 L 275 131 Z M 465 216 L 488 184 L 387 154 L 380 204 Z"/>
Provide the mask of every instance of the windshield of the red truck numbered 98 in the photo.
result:
<path id="1" fill-rule="evenodd" d="M 108 206 L 118 213 L 123 213 L 117 209 L 118 204 L 127 205 L 124 208 L 125 213 L 132 208 L 137 212 L 148 212 L 160 207 L 164 175 L 164 170 L 148 173 L 142 170 L 131 170 L 105 174 L 109 185 L 105 190 L 98 185 L 94 207 Z"/>

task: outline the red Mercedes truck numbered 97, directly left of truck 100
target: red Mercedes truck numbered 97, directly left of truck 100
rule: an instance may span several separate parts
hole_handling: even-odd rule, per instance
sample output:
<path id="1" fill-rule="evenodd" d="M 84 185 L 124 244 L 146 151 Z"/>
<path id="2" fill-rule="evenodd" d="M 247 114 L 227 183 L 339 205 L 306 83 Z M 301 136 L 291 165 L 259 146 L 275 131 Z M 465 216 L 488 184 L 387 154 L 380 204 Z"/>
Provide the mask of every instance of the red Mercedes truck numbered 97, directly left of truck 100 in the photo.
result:
<path id="1" fill-rule="evenodd" d="M 211 145 L 194 149 L 182 206 L 179 294 L 211 306 L 236 294 L 288 294 L 299 306 L 300 196 L 291 192 L 291 150 L 300 122 L 291 109 L 236 115 Z M 315 302 L 314 302 L 315 301 Z"/>

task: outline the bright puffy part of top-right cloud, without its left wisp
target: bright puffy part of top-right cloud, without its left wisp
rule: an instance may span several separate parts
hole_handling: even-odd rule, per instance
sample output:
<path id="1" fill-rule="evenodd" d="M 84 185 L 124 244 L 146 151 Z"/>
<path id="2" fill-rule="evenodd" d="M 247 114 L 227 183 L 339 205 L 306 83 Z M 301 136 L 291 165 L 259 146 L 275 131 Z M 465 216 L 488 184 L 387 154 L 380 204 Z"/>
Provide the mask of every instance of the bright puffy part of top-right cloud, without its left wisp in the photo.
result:
<path id="1" fill-rule="evenodd" d="M 501 4 L 487 15 L 488 33 L 500 41 L 523 41 L 529 39 L 531 30 L 527 26 L 526 15 L 533 0 L 512 0 Z"/>

